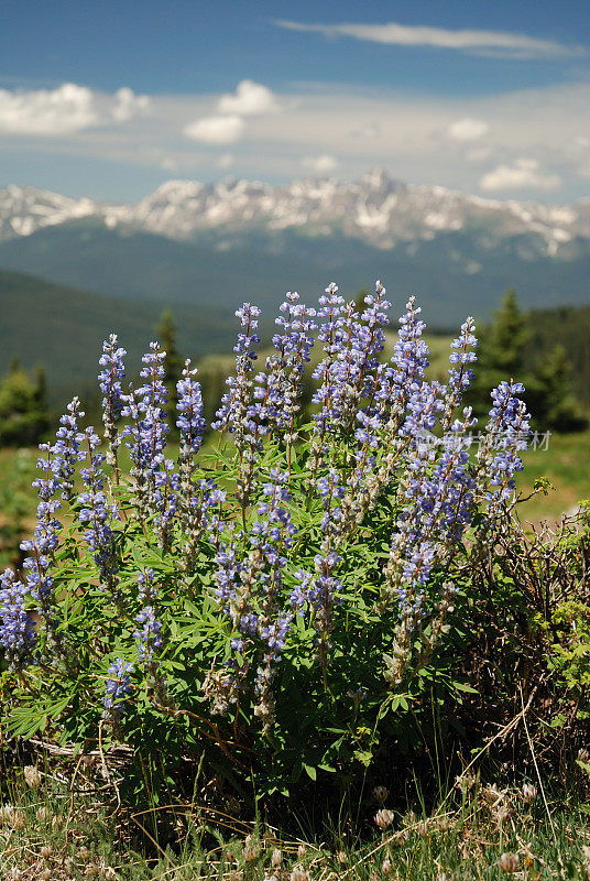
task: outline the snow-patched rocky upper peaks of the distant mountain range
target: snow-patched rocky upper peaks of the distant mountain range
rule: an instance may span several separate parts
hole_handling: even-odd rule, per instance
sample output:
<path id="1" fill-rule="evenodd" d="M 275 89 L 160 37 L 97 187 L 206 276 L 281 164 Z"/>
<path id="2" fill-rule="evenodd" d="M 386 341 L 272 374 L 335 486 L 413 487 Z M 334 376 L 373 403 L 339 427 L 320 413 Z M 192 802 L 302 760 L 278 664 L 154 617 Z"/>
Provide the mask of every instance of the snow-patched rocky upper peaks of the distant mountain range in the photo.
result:
<path id="1" fill-rule="evenodd" d="M 525 236 L 524 259 L 526 250 L 531 259 L 542 254 L 567 259 L 575 240 L 590 244 L 590 199 L 565 206 L 496 202 L 438 186 L 404 184 L 383 171 L 352 183 L 315 178 L 283 186 L 241 180 L 168 181 L 128 205 L 73 199 L 15 185 L 0 189 L 0 242 L 80 220 L 121 233 L 207 241 L 219 250 L 240 244 L 244 236 L 262 236 L 272 242 L 284 232 L 345 237 L 381 250 L 463 231 L 489 251 Z"/>

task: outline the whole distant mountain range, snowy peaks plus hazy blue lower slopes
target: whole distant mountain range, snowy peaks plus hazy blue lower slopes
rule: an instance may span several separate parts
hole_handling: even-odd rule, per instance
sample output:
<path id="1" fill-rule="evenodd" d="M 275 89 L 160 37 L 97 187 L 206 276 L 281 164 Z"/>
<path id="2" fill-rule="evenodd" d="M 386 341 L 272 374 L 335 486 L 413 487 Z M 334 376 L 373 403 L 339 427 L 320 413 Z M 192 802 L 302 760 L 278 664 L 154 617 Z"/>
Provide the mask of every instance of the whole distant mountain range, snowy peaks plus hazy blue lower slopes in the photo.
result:
<path id="1" fill-rule="evenodd" d="M 372 172 L 283 186 L 168 181 L 133 205 L 0 191 L 0 270 L 123 300 L 273 314 L 329 282 L 416 293 L 429 323 L 490 315 L 509 285 L 525 307 L 590 301 L 590 199 L 494 202 Z M 176 311 L 179 309 L 175 306 Z"/>

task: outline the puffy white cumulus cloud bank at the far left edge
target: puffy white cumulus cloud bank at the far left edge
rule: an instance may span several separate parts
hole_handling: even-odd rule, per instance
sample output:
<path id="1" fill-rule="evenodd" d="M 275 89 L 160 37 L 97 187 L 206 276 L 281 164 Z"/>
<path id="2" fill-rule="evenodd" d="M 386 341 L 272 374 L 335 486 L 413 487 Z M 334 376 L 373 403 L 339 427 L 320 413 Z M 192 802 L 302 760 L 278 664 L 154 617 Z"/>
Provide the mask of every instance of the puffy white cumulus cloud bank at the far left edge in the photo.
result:
<path id="1" fill-rule="evenodd" d="M 64 83 L 56 89 L 0 89 L 0 131 L 10 134 L 59 137 L 84 129 L 127 122 L 146 112 L 151 99 L 120 88 L 113 96 Z"/>

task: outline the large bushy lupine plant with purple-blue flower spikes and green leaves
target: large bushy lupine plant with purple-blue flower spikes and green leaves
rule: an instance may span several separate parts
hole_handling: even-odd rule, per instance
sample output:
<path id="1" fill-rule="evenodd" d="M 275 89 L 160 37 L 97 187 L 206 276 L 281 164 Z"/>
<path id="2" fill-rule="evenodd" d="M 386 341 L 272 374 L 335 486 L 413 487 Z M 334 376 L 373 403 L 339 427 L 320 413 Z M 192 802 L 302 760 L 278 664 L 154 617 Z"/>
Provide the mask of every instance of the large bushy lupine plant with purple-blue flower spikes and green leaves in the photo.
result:
<path id="1" fill-rule="evenodd" d="M 476 455 L 473 320 L 441 383 L 413 297 L 385 357 L 390 308 L 379 282 L 362 313 L 335 284 L 317 309 L 289 293 L 258 368 L 260 311 L 244 303 L 210 429 L 185 365 L 176 461 L 165 354 L 152 342 L 143 384 L 125 387 L 124 349 L 105 341 L 103 431 L 81 427 L 74 399 L 41 447 L 22 572 L 1 576 L 10 732 L 123 740 L 168 771 L 205 753 L 238 791 L 253 774 L 288 792 L 371 764 L 435 678 L 460 699 L 468 564 L 514 502 L 528 414 L 506 378 Z"/>

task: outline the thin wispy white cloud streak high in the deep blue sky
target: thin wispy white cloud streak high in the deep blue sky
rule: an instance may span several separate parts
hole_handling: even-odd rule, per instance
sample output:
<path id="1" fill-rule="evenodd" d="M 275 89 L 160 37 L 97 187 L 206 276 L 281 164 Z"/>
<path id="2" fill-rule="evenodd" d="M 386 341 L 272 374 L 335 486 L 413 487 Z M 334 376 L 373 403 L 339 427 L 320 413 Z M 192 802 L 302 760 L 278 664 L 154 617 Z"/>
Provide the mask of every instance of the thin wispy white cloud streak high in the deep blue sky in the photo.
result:
<path id="1" fill-rule="evenodd" d="M 386 43 L 401 46 L 435 46 L 437 48 L 459 50 L 462 52 L 481 52 L 514 58 L 551 58 L 586 54 L 581 46 L 566 46 L 554 40 L 539 40 L 526 34 L 505 31 L 448 31 L 444 28 L 425 28 L 419 25 L 398 24 L 305 24 L 296 21 L 278 20 L 274 22 L 289 31 L 324 34 L 329 37 L 351 36 L 373 43 Z"/>

